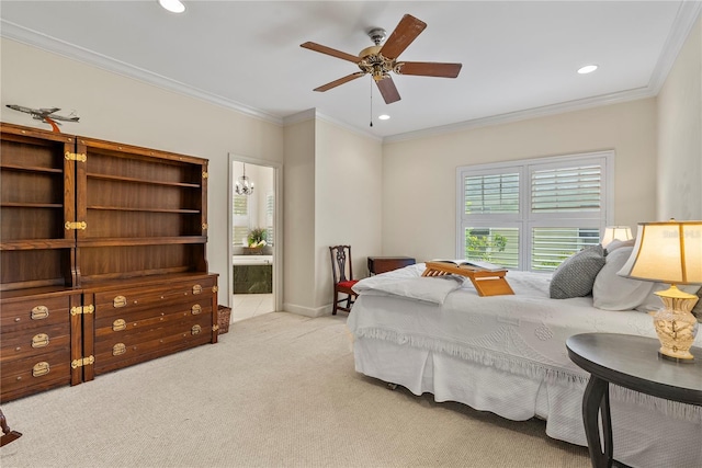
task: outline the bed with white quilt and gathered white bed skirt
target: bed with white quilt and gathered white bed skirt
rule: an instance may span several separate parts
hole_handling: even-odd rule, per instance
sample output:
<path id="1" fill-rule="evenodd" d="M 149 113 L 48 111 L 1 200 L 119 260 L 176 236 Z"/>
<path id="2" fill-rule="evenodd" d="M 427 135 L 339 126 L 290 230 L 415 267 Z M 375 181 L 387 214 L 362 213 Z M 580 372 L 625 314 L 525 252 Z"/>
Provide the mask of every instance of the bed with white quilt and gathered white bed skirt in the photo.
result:
<path id="1" fill-rule="evenodd" d="M 600 292 L 620 294 L 616 278 L 600 276 L 616 269 L 613 258 L 597 278 L 605 282 Z M 465 278 L 421 277 L 423 270 L 419 263 L 354 287 L 359 297 L 348 327 L 356 372 L 415 395 L 432 393 L 439 402 L 457 401 L 516 421 L 544 419 L 553 438 L 587 446 L 581 401 L 589 375 L 568 358 L 568 336 L 656 336 L 645 311 L 593 307 L 604 299 L 601 294 L 597 300 L 593 295 L 552 299 L 551 274 L 509 272 L 514 295 L 479 297 Z M 654 285 L 638 283 L 629 284 L 620 299 L 650 301 Z M 700 335 L 694 345 L 702 345 Z M 702 408 L 616 386 L 610 398 L 615 459 L 633 467 L 702 466 Z"/>

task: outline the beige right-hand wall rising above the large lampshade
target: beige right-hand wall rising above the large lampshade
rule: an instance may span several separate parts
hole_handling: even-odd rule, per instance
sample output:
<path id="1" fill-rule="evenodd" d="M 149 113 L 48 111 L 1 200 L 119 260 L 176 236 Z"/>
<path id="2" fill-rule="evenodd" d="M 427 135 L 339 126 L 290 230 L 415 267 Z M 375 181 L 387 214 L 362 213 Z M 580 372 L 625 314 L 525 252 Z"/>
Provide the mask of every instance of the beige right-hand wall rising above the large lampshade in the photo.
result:
<path id="1" fill-rule="evenodd" d="M 702 219 L 702 18 L 658 94 L 657 220 Z"/>

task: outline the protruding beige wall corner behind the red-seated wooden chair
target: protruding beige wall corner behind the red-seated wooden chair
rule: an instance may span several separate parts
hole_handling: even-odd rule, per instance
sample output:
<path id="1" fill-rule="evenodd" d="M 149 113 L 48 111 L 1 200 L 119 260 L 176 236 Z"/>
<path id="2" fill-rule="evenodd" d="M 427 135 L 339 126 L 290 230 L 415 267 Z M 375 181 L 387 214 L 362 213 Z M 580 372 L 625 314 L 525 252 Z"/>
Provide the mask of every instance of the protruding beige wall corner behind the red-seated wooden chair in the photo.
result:
<path id="1" fill-rule="evenodd" d="M 320 118 L 285 128 L 285 304 L 331 311 L 329 246 L 351 244 L 354 276 L 381 252 L 380 140 Z"/>

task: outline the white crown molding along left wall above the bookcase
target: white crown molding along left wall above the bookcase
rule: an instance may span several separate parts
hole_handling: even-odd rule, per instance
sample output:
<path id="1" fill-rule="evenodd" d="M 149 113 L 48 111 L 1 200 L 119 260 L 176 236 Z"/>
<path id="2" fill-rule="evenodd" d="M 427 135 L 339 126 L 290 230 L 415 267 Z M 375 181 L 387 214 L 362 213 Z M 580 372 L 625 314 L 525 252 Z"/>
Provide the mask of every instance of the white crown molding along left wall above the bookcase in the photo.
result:
<path id="1" fill-rule="evenodd" d="M 154 73 L 143 68 L 115 60 L 114 58 L 110 58 L 93 50 L 69 44 L 65 41 L 57 39 L 46 34 L 22 27 L 18 24 L 2 19 L 0 19 L 0 36 L 33 47 L 37 47 L 43 50 L 70 58 L 72 60 L 81 61 L 83 64 L 88 64 L 106 71 L 122 75 L 127 78 L 133 78 L 168 91 L 173 91 L 179 94 L 195 98 L 225 109 L 237 111 L 251 117 L 260 118 L 275 125 L 283 125 L 283 119 L 275 115 L 268 114 L 246 104 L 241 104 L 227 98 L 223 98 L 220 95 L 193 88 L 191 85 L 181 83 L 180 81 L 172 80 L 170 78 Z"/>

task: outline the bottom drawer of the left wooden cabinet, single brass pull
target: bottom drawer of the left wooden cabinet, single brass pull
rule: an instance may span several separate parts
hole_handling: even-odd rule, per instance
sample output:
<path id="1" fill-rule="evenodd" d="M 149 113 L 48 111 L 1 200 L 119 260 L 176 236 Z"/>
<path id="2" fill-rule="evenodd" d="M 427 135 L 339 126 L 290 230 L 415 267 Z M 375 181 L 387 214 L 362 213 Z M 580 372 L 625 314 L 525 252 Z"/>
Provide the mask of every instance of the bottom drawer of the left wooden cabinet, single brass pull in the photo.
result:
<path id="1" fill-rule="evenodd" d="M 2 401 L 69 385 L 71 381 L 68 349 L 2 363 Z"/>

